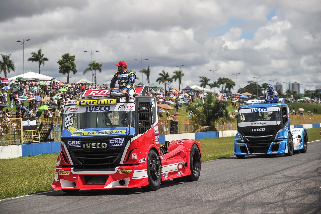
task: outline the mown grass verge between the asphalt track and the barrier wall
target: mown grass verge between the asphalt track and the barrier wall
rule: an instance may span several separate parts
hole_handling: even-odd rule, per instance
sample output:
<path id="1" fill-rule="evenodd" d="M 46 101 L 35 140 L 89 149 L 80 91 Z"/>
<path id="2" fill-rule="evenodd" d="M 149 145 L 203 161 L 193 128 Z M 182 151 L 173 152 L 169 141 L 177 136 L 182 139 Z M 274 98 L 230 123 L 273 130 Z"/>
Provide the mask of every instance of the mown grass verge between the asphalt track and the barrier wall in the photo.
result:
<path id="1" fill-rule="evenodd" d="M 308 129 L 309 141 L 321 139 L 320 128 Z M 199 139 L 203 161 L 233 155 L 234 137 Z M 51 190 L 58 153 L 0 159 L 0 199 Z"/>

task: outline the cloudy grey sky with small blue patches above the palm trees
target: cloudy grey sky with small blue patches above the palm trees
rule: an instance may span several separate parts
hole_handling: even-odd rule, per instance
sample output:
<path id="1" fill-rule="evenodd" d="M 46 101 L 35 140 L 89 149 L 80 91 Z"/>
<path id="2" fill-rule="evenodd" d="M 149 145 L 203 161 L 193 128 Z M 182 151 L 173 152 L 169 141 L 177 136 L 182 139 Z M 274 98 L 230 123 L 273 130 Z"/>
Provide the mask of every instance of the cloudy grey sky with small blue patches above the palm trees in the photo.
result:
<path id="1" fill-rule="evenodd" d="M 137 72 L 136 82 L 147 84 L 134 59 L 148 58 L 142 65 L 150 66 L 151 83 L 162 70 L 172 76 L 184 65 L 183 87 L 199 85 L 199 76 L 230 78 L 237 82 L 234 91 L 251 80 L 299 82 L 301 93 L 321 85 L 320 0 L 0 0 L 0 30 L 0 53 L 11 53 L 16 67 L 8 77 L 23 74 L 16 40 L 30 39 L 25 73 L 38 72 L 38 63 L 27 59 L 41 48 L 49 59 L 41 74 L 62 81 L 61 55 L 75 55 L 72 82 L 92 80 L 91 72 L 82 74 L 91 62 L 83 51 L 99 50 L 92 56 L 102 63 L 98 84 L 112 78 L 120 60 Z"/>

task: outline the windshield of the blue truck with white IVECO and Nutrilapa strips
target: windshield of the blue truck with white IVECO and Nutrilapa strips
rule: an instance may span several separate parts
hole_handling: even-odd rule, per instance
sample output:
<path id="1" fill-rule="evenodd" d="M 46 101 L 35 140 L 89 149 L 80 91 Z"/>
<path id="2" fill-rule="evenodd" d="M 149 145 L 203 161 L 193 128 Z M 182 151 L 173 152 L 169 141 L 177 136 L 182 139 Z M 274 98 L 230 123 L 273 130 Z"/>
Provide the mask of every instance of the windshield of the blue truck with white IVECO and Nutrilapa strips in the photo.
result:
<path id="1" fill-rule="evenodd" d="M 246 108 L 238 112 L 238 126 L 264 126 L 281 123 L 279 107 Z"/>

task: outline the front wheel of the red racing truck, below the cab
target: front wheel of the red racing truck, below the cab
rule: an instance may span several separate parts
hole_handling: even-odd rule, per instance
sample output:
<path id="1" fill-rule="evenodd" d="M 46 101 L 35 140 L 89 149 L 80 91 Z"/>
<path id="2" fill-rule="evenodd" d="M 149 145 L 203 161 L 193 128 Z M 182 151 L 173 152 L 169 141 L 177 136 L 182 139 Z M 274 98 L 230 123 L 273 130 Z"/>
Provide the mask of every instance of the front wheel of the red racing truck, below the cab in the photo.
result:
<path id="1" fill-rule="evenodd" d="M 150 150 L 148 153 L 147 176 L 148 185 L 142 186 L 142 189 L 146 192 L 158 190 L 161 183 L 161 165 L 160 159 L 154 150 Z"/>

